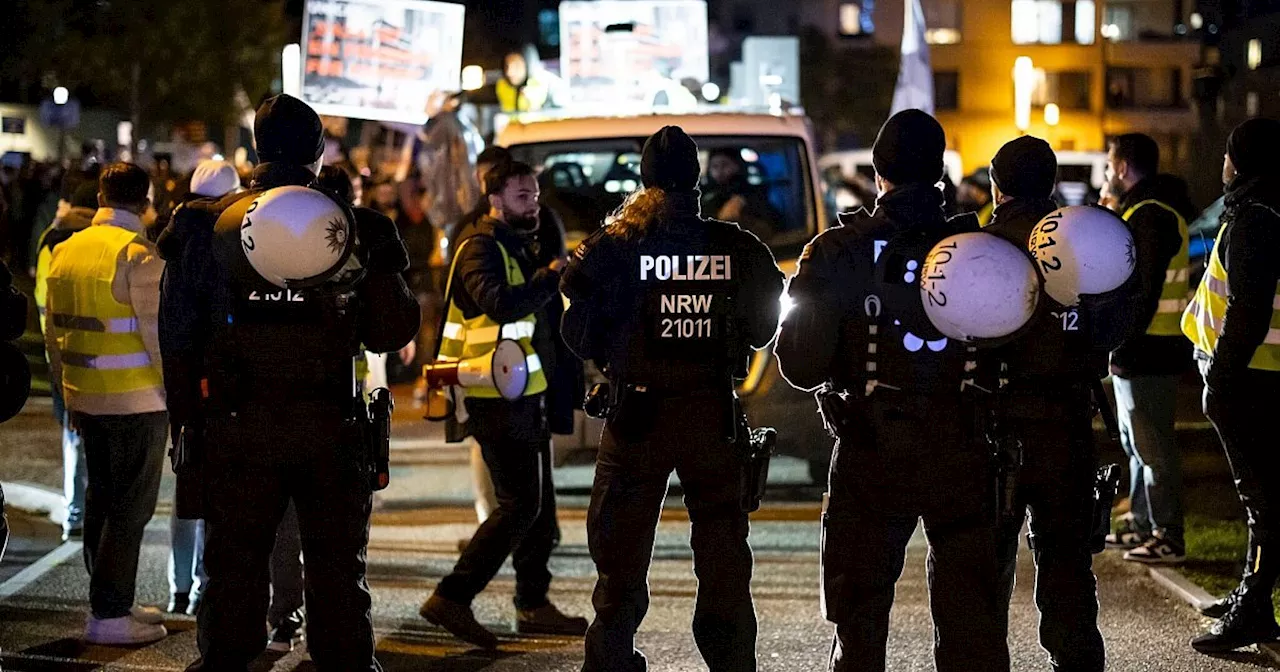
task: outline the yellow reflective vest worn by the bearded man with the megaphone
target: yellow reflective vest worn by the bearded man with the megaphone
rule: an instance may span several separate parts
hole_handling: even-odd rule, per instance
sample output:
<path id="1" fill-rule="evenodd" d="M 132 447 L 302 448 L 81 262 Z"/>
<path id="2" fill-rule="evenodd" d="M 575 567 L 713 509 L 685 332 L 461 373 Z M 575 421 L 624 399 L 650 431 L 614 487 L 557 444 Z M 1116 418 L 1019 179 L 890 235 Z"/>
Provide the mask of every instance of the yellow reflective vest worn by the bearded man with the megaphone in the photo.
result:
<path id="1" fill-rule="evenodd" d="M 524 396 L 531 397 L 547 392 L 547 374 L 543 371 L 543 361 L 534 349 L 534 330 L 538 328 L 538 317 L 530 314 L 513 323 L 498 324 L 481 312 L 468 320 L 462 315 L 462 308 L 453 298 L 453 274 L 457 273 L 458 256 L 470 241 L 470 238 L 462 241 L 462 244 L 453 253 L 453 266 L 449 269 L 449 282 L 444 291 L 445 296 L 449 297 L 449 311 L 444 317 L 436 361 L 452 362 L 492 355 L 498 347 L 499 339 L 515 340 L 525 351 L 525 365 L 529 367 L 529 384 L 525 387 Z M 520 264 L 511 259 L 500 242 L 498 250 L 502 251 L 502 261 L 507 268 L 507 284 L 512 287 L 525 284 L 525 274 L 520 270 Z M 467 396 L 489 399 L 500 397 L 498 388 L 493 387 L 467 388 Z"/>

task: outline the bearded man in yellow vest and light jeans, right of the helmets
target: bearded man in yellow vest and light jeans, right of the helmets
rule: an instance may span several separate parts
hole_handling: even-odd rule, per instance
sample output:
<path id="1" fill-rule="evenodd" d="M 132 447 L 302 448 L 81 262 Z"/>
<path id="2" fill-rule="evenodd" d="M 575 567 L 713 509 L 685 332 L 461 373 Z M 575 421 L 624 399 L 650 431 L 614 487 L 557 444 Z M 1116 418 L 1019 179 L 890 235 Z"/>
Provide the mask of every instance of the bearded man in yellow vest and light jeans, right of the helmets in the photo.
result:
<path id="1" fill-rule="evenodd" d="M 1187 188 L 1158 174 L 1160 147 L 1140 133 L 1111 142 L 1107 191 L 1133 232 L 1144 312 L 1140 329 L 1111 353 L 1120 440 L 1129 456 L 1130 516 L 1107 536 L 1125 559 L 1174 564 L 1183 541 L 1181 463 L 1174 434 L 1178 379 L 1190 366 L 1179 320 L 1187 307 Z"/>

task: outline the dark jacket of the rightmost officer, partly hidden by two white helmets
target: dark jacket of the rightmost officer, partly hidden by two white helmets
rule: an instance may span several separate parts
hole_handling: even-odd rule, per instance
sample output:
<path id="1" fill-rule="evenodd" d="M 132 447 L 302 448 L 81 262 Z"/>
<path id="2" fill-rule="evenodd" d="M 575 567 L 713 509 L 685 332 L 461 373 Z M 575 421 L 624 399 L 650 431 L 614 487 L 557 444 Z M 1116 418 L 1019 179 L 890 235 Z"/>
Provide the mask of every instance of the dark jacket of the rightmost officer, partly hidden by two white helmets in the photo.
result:
<path id="1" fill-rule="evenodd" d="M 1057 210 L 1053 201 L 1014 198 L 996 206 L 991 224 L 983 230 L 993 233 L 1027 250 L 1032 229 L 1044 215 Z M 1062 387 L 1091 384 L 1102 378 L 1105 357 L 1089 351 L 1083 340 L 1079 314 L 1041 293 L 1039 305 L 1027 332 L 1015 340 L 989 351 L 987 356 L 1007 365 L 1006 376 L 1015 389 L 1055 396 Z M 1075 338 L 1073 338 L 1075 337 Z M 997 367 L 988 367 L 998 371 Z"/>

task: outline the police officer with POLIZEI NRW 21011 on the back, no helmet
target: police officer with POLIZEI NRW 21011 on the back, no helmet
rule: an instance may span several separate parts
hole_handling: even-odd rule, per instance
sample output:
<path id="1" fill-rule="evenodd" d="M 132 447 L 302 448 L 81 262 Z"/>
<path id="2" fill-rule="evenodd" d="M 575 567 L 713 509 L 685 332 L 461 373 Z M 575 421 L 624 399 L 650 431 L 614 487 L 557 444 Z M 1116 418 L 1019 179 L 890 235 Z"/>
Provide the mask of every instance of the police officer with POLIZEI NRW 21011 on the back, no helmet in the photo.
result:
<path id="1" fill-rule="evenodd" d="M 576 250 L 562 283 L 566 340 L 612 390 L 588 512 L 599 580 L 584 671 L 645 669 L 635 634 L 672 470 L 692 527 L 694 640 L 712 672 L 755 669 L 733 384 L 773 338 L 783 278 L 755 236 L 699 216 L 699 172 L 684 131 L 650 137 L 644 188 Z"/>

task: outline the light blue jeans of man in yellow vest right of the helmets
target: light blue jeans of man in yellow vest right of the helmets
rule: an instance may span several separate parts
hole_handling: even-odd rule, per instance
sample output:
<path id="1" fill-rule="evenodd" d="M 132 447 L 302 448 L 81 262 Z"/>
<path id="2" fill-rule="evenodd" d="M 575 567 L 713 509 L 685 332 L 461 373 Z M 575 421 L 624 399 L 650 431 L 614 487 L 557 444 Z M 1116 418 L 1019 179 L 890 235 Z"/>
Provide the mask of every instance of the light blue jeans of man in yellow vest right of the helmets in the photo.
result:
<path id="1" fill-rule="evenodd" d="M 1129 509 L 1143 532 L 1183 544 L 1183 465 L 1174 433 L 1179 376 L 1114 376 Z"/>

